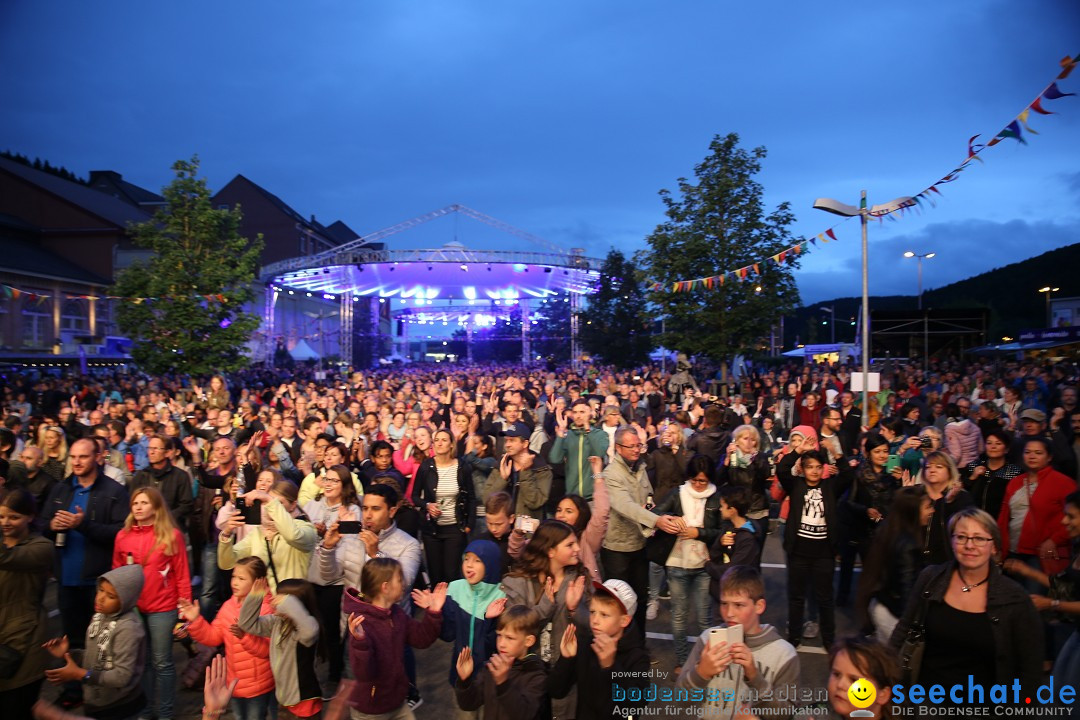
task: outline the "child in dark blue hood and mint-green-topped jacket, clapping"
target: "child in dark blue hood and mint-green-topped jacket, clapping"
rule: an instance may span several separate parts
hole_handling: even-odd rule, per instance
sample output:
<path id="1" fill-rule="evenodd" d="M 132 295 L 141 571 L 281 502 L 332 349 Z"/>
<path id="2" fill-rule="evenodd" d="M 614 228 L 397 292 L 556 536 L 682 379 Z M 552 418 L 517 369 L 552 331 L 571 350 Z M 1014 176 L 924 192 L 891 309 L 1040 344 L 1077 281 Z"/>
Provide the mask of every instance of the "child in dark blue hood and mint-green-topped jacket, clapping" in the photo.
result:
<path id="1" fill-rule="evenodd" d="M 443 606 L 442 638 L 454 641 L 457 657 L 463 648 L 472 650 L 478 666 L 495 652 L 495 626 L 507 607 L 507 595 L 499 588 L 502 578 L 499 546 L 490 540 L 474 540 L 461 556 L 461 580 L 450 583 Z M 458 673 L 450 665 L 450 684 Z"/>

